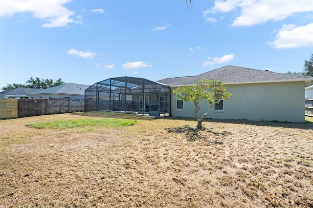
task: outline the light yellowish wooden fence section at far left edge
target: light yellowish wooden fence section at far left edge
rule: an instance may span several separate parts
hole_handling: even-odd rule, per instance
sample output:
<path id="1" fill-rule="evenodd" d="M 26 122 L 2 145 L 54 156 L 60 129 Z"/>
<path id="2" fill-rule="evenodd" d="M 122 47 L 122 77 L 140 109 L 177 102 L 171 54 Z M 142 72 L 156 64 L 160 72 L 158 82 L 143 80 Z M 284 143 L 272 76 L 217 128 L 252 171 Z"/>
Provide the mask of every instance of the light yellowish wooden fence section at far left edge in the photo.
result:
<path id="1" fill-rule="evenodd" d="M 14 98 L 0 98 L 0 119 L 18 117 L 18 100 Z"/>

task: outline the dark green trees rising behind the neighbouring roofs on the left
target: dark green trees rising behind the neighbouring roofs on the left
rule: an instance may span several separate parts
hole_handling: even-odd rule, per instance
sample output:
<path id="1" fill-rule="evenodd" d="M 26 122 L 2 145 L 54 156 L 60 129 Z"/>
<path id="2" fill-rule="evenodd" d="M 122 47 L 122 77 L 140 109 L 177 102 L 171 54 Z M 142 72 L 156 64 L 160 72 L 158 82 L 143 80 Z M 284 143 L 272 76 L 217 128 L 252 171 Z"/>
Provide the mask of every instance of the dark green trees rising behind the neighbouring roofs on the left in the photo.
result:
<path id="1" fill-rule="evenodd" d="M 28 87 L 28 88 L 35 88 L 35 89 L 46 89 L 49 87 L 54 87 L 58 86 L 60 84 L 64 84 L 65 82 L 62 81 L 61 78 L 53 81 L 52 79 L 40 79 L 36 77 L 35 79 L 33 77 L 30 77 L 29 80 L 26 81 L 28 84 L 6 84 L 4 87 L 1 87 L 1 90 L 9 90 L 9 89 L 14 89 L 18 87 Z"/>

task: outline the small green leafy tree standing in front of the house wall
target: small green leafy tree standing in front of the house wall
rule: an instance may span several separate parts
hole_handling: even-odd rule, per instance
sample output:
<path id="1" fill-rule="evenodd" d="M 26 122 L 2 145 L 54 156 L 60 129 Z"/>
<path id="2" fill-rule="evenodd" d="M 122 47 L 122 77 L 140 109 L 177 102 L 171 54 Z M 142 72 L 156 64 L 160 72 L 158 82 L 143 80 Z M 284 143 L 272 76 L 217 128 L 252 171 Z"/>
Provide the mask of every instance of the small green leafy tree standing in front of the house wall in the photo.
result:
<path id="1" fill-rule="evenodd" d="M 213 81 L 209 79 L 203 79 L 195 82 L 193 85 L 184 85 L 178 87 L 173 91 L 176 93 L 175 97 L 181 99 L 183 102 L 192 102 L 195 104 L 195 117 L 198 121 L 197 129 L 202 128 L 202 122 L 205 116 L 210 112 L 211 108 L 215 104 L 219 104 L 221 100 L 228 100 L 232 95 L 226 92 L 226 87 L 221 81 Z M 204 101 L 209 102 L 207 111 L 199 117 L 200 104 Z"/>

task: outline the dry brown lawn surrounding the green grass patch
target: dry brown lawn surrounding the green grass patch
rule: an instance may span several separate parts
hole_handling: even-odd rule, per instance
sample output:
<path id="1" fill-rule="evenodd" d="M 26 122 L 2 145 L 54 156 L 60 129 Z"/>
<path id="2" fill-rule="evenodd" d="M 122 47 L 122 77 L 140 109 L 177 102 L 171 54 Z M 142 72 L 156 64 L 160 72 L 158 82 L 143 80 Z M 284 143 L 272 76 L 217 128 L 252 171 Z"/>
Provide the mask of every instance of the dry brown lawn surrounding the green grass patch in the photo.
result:
<path id="1" fill-rule="evenodd" d="M 139 123 L 53 130 L 86 116 Z M 73 113 L 0 121 L 0 207 L 313 207 L 313 125 Z"/>

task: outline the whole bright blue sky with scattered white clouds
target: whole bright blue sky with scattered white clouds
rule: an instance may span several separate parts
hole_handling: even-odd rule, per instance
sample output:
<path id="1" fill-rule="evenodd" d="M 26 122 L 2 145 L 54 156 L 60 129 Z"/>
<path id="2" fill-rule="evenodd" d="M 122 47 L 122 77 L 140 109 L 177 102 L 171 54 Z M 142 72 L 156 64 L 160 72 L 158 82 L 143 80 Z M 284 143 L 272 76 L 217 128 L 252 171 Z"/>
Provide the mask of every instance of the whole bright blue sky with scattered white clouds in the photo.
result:
<path id="1" fill-rule="evenodd" d="M 189 0 L 188 0 L 189 3 Z M 313 53 L 312 0 L 0 0 L 0 87 L 157 81 L 225 65 L 286 73 Z"/>

